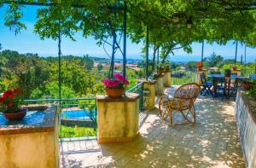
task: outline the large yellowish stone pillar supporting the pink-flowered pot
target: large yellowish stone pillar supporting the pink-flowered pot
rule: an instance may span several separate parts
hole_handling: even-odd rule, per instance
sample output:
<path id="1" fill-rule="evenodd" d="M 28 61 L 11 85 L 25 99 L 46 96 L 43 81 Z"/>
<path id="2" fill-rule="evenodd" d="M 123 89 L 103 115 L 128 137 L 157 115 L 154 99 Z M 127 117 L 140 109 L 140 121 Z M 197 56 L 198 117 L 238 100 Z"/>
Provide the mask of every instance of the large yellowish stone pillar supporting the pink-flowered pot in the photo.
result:
<path id="1" fill-rule="evenodd" d="M 138 134 L 139 95 L 126 93 L 119 99 L 96 96 L 99 143 L 128 142 Z"/>

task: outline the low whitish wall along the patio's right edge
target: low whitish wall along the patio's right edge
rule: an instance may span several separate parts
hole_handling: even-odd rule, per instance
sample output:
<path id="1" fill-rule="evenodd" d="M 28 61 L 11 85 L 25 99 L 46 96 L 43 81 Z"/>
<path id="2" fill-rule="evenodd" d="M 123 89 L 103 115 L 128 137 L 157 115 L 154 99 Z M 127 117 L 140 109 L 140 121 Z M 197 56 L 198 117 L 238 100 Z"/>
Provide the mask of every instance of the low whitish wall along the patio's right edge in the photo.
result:
<path id="1" fill-rule="evenodd" d="M 241 148 L 247 167 L 256 167 L 256 119 L 239 91 L 236 96 L 236 123 L 241 140 Z"/>

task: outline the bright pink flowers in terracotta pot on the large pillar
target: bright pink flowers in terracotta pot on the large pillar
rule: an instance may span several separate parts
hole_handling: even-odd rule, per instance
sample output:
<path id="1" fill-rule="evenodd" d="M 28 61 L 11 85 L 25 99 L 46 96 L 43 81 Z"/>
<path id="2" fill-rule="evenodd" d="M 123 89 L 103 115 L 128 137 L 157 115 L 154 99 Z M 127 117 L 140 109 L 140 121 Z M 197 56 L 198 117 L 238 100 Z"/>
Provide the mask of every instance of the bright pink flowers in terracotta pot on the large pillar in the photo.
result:
<path id="1" fill-rule="evenodd" d="M 111 98 L 120 98 L 125 94 L 125 85 L 129 84 L 127 78 L 120 73 L 113 74 L 113 78 L 104 78 L 106 94 Z"/>

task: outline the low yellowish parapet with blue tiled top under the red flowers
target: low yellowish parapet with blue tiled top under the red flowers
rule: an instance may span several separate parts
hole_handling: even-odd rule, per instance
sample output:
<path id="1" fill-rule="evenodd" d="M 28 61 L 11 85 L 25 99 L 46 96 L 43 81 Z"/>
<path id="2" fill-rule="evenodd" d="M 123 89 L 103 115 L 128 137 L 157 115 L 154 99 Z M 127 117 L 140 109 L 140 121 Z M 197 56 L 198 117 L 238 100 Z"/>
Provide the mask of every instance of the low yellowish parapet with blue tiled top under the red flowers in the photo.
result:
<path id="1" fill-rule="evenodd" d="M 1 123 L 4 123 L 0 125 L 0 167 L 58 167 L 59 119 L 56 106 L 26 107 L 32 112 L 28 111 L 20 121 L 4 122 L 3 115 L 0 116 Z"/>

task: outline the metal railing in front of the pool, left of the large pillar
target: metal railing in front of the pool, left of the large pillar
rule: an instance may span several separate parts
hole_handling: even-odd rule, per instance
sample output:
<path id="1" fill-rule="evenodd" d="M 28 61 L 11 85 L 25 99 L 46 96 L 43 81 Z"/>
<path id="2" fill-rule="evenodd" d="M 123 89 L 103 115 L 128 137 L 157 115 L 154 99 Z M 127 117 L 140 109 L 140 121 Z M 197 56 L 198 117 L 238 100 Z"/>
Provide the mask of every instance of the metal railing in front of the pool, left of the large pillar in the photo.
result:
<path id="1" fill-rule="evenodd" d="M 25 100 L 26 104 L 55 104 L 60 119 L 60 138 L 96 137 L 95 97 Z"/>

